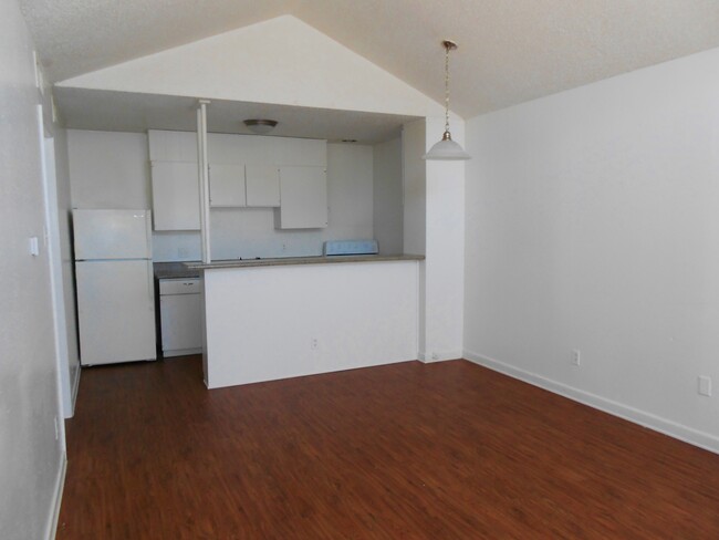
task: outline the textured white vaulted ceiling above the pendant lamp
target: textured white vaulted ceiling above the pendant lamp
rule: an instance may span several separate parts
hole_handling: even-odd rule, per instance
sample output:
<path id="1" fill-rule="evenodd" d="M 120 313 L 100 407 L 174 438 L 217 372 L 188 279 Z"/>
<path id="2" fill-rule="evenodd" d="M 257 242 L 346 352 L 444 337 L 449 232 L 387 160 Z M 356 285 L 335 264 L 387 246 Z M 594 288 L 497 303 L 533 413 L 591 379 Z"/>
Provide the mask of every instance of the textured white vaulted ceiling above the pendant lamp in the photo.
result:
<path id="1" fill-rule="evenodd" d="M 719 0 L 19 0 L 51 81 L 293 14 L 463 117 L 719 46 Z"/>

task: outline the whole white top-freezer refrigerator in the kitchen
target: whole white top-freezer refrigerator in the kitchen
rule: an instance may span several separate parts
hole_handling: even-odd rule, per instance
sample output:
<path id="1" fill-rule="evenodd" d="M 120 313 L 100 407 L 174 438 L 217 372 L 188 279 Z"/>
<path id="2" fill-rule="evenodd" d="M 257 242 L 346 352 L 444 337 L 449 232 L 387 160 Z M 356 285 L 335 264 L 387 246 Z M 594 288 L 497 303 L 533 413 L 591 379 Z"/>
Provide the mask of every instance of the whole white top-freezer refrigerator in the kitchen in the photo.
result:
<path id="1" fill-rule="evenodd" d="M 149 210 L 73 211 L 82 365 L 156 360 Z"/>

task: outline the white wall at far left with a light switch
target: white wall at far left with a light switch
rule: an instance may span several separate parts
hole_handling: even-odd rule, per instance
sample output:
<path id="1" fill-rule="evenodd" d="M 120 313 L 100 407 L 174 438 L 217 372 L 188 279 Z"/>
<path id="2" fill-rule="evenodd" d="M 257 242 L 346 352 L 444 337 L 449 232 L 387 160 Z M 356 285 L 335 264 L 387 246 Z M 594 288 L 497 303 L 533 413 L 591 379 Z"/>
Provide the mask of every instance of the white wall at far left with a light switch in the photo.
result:
<path id="1" fill-rule="evenodd" d="M 0 3 L 0 523 L 44 538 L 64 470 L 32 42 L 17 2 Z M 29 239 L 40 239 L 31 257 Z"/>

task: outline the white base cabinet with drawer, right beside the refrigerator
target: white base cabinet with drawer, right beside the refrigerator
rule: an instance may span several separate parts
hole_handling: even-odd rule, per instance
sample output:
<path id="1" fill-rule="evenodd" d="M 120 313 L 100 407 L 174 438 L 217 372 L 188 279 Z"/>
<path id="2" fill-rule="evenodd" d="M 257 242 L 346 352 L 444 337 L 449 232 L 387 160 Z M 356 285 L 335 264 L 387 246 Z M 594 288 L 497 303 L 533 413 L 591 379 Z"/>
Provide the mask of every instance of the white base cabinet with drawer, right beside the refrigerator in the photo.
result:
<path id="1" fill-rule="evenodd" d="M 202 352 L 202 280 L 159 280 L 159 319 L 163 356 Z"/>

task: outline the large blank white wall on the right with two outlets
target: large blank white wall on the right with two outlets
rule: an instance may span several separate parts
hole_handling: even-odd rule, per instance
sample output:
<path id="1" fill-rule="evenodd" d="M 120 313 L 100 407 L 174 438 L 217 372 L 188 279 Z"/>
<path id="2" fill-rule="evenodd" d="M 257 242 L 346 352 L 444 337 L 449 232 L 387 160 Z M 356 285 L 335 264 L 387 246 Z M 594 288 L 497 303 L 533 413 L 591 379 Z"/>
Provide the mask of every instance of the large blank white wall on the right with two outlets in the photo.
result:
<path id="1" fill-rule="evenodd" d="M 468 123 L 467 355 L 719 451 L 719 50 Z M 581 351 L 581 366 L 571 351 Z"/>

